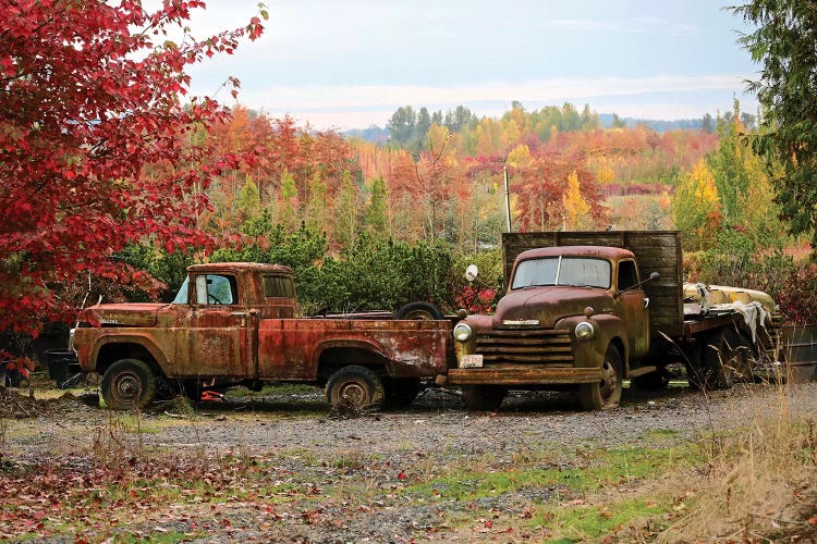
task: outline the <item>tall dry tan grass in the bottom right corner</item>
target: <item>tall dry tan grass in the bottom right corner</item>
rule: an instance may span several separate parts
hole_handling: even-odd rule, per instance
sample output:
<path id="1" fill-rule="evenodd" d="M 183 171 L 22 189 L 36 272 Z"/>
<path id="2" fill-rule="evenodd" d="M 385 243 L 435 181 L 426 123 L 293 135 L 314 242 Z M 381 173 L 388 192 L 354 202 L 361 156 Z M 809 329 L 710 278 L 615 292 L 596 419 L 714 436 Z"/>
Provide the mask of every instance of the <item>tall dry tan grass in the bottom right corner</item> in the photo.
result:
<path id="1" fill-rule="evenodd" d="M 780 385 L 775 406 L 735 415 L 744 426 L 700 441 L 705 465 L 674 482 L 687 514 L 661 541 L 817 541 L 817 418 L 789 398 Z"/>

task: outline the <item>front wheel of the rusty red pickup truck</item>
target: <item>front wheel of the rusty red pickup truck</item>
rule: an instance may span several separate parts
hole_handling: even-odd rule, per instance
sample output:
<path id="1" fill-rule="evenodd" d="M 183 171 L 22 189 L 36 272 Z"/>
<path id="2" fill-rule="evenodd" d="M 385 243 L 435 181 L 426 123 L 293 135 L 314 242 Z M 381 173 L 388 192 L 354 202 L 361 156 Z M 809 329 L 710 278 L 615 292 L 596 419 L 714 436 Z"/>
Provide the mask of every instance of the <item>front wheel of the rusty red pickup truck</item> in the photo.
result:
<path id="1" fill-rule="evenodd" d="M 144 408 L 156 397 L 156 375 L 138 359 L 121 359 L 102 376 L 102 398 L 113 410 Z"/>

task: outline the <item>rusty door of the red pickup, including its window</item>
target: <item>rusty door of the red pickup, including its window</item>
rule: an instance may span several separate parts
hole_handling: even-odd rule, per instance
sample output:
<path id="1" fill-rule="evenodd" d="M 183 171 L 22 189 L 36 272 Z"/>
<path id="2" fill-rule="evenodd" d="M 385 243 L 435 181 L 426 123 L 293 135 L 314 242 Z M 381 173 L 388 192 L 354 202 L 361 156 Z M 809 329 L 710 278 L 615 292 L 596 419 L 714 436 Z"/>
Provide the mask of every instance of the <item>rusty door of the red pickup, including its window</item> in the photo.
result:
<path id="1" fill-rule="evenodd" d="M 199 273 L 191 283 L 187 311 L 176 329 L 176 375 L 248 378 L 251 319 L 236 277 Z"/>

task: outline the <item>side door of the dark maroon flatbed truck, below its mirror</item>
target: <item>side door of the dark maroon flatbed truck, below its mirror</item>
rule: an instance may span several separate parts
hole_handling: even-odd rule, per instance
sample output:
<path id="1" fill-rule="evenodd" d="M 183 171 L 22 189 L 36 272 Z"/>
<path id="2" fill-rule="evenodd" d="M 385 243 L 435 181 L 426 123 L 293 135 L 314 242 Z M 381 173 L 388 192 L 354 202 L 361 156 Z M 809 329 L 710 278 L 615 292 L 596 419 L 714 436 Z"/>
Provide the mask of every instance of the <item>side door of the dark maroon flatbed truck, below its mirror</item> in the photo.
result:
<path id="1" fill-rule="evenodd" d="M 649 308 L 644 289 L 633 288 L 638 284 L 635 261 L 619 261 L 615 280 L 617 288 L 624 293 L 614 298 L 613 313 L 627 324 L 630 357 L 637 359 L 646 356 L 649 350 Z"/>

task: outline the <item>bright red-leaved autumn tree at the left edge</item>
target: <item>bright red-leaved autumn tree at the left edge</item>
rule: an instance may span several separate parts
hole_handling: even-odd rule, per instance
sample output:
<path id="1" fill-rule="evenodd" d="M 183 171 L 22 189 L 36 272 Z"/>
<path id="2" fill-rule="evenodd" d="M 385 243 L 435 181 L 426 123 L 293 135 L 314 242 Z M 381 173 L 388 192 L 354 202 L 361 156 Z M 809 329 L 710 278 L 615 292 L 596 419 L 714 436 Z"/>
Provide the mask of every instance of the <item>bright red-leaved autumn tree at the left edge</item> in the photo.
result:
<path id="1" fill-rule="evenodd" d="M 134 283 L 110 257 L 151 236 L 168 250 L 208 240 L 195 225 L 204 190 L 237 158 L 181 145 L 229 112 L 190 98 L 185 70 L 242 37 L 257 38 L 261 10 L 208 39 L 182 33 L 196 0 L 2 0 L 0 12 L 0 330 L 35 333 L 68 319 L 54 286 L 93 274 Z M 237 86 L 232 81 L 232 86 Z M 143 175 L 163 163 L 160 175 Z"/>

